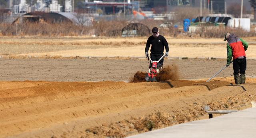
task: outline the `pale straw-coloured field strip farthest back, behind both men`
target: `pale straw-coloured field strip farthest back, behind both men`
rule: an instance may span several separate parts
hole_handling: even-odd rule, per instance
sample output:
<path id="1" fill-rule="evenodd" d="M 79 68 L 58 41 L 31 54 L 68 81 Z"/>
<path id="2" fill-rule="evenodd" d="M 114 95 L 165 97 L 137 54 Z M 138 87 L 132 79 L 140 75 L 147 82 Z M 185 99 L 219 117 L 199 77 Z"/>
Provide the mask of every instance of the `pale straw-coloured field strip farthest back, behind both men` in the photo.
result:
<path id="1" fill-rule="evenodd" d="M 249 43 L 246 55 L 256 58 L 256 39 Z M 144 56 L 147 37 L 140 38 L 0 38 L 0 55 L 6 56 Z M 173 39 L 167 37 L 171 57 L 226 58 L 223 39 Z M 191 52 L 193 51 L 193 52 Z"/>

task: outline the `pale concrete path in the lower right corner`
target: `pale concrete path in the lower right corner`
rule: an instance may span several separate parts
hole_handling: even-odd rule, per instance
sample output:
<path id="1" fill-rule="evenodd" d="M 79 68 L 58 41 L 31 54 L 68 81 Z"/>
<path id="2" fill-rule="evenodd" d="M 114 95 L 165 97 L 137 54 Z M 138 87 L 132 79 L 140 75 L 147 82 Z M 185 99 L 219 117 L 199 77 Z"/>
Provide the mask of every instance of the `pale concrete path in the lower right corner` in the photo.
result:
<path id="1" fill-rule="evenodd" d="M 128 138 L 256 138 L 256 108 L 178 124 Z"/>

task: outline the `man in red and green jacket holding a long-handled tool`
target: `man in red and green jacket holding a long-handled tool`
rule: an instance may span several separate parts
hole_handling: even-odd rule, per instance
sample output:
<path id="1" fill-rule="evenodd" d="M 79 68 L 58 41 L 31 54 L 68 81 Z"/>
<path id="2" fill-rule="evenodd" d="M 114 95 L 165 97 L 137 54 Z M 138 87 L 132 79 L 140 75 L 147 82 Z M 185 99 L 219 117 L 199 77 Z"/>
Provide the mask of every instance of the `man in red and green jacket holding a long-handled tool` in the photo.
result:
<path id="1" fill-rule="evenodd" d="M 245 70 L 246 70 L 246 55 L 245 51 L 248 48 L 248 43 L 242 38 L 236 37 L 234 34 L 227 33 L 225 35 L 224 41 L 227 43 L 227 65 L 230 65 L 231 59 L 233 57 L 233 69 L 234 69 L 234 79 L 236 84 L 245 83 Z M 240 73 L 240 76 L 239 76 Z"/>

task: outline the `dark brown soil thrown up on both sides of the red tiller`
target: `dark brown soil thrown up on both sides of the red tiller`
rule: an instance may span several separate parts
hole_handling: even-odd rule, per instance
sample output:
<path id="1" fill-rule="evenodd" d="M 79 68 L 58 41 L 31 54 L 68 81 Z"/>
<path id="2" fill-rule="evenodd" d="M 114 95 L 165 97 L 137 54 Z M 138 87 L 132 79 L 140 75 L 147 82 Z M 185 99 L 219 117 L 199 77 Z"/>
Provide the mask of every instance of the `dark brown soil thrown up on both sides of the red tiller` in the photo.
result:
<path id="1" fill-rule="evenodd" d="M 130 79 L 130 83 L 145 82 L 146 81 L 145 75 L 146 75 L 146 72 L 137 71 L 134 74 L 134 77 Z M 175 64 L 164 67 L 163 70 L 156 75 L 157 81 L 178 80 L 178 79 L 179 79 L 178 67 Z"/>

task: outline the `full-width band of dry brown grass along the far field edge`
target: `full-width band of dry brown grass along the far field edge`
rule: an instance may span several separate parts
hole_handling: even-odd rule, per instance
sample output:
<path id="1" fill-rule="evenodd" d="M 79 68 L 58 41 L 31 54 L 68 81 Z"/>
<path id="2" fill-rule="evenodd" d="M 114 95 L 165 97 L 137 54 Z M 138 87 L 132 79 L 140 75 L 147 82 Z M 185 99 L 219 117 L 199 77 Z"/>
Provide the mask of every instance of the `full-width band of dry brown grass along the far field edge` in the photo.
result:
<path id="1" fill-rule="evenodd" d="M 177 21 L 177 20 L 176 20 Z M 141 20 L 136 21 L 153 28 L 164 23 L 164 21 Z M 175 22 L 175 21 L 171 21 Z M 50 24 L 50 23 L 31 23 L 24 24 L 0 24 L 0 36 L 40 36 L 40 37 L 61 37 L 61 36 L 90 36 L 101 37 L 120 37 L 121 30 L 130 22 L 126 20 L 106 21 L 101 20 L 93 22 L 93 26 L 76 26 L 74 24 Z M 160 33 L 169 37 L 203 37 L 203 38 L 221 38 L 226 32 L 232 32 L 239 37 L 256 36 L 254 32 L 245 32 L 242 29 L 234 28 L 207 28 L 201 26 L 202 30 L 196 32 L 196 35 L 183 33 L 177 28 L 160 28 Z"/>

